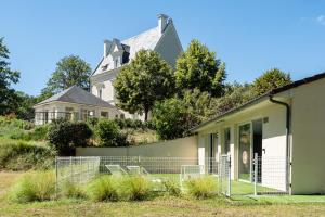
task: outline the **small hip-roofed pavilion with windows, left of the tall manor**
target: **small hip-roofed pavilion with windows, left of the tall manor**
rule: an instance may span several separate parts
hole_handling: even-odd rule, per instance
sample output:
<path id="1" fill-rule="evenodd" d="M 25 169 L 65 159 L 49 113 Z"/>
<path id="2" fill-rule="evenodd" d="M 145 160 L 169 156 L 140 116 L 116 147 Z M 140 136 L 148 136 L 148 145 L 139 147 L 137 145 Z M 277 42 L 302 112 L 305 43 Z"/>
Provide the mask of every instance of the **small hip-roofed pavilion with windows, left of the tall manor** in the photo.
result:
<path id="1" fill-rule="evenodd" d="M 117 118 L 123 114 L 108 102 L 73 86 L 34 106 L 35 124 L 42 125 L 52 119 L 87 120 L 89 117 Z"/>

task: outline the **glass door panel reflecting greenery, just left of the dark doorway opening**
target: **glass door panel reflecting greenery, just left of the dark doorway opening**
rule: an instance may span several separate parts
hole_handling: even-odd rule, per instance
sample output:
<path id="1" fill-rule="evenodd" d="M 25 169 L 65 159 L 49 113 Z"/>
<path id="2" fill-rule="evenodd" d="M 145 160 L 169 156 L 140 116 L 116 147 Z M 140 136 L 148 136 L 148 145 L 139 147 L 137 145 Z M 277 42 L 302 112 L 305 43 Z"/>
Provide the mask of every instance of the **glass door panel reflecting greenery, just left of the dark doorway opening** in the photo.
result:
<path id="1" fill-rule="evenodd" d="M 250 152 L 251 152 L 250 123 L 239 126 L 239 179 L 250 181 Z"/>

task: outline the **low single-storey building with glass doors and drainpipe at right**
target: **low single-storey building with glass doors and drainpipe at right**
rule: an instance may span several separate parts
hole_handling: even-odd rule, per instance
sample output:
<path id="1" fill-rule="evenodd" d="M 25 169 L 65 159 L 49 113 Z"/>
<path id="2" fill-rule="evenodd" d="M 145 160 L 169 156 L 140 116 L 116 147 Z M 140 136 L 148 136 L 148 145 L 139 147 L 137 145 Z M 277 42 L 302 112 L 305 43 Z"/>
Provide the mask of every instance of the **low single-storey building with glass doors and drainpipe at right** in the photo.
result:
<path id="1" fill-rule="evenodd" d="M 229 154 L 232 179 L 251 182 L 258 154 L 262 184 L 291 194 L 318 194 L 325 192 L 324 124 L 322 73 L 274 89 L 192 131 L 198 136 L 199 164 Z"/>

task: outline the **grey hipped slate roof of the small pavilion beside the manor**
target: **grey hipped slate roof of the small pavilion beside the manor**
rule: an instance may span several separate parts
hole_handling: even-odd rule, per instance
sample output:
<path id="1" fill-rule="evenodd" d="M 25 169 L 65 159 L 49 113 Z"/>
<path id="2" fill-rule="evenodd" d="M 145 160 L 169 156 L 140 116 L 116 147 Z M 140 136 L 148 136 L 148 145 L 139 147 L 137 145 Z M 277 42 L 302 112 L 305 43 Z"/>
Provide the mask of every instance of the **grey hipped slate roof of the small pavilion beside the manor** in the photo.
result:
<path id="1" fill-rule="evenodd" d="M 50 102 L 70 102 L 77 104 L 86 104 L 86 105 L 93 105 L 100 107 L 109 107 L 116 108 L 108 102 L 95 97 L 94 94 L 79 88 L 78 86 L 73 86 L 64 91 L 40 102 L 37 103 L 35 106 L 42 105 Z"/>

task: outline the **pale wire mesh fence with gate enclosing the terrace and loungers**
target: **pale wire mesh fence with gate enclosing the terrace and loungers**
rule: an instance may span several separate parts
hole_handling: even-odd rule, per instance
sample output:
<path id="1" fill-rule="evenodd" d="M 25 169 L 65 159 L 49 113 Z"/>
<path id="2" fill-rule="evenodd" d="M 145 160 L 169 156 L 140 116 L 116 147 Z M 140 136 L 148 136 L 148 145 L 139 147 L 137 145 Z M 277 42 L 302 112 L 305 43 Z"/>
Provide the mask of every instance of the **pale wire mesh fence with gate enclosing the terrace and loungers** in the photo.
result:
<path id="1" fill-rule="evenodd" d="M 86 183 L 96 175 L 142 174 L 152 178 L 183 182 L 203 176 L 214 176 L 219 193 L 231 195 L 287 194 L 287 161 L 285 157 L 261 157 L 255 155 L 251 180 L 240 181 L 232 177 L 233 163 L 230 155 L 206 157 L 142 157 L 142 156 L 100 156 L 100 157 L 57 157 L 57 188 L 65 181 Z"/>

